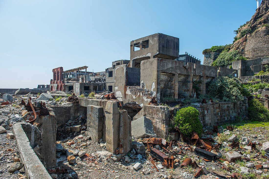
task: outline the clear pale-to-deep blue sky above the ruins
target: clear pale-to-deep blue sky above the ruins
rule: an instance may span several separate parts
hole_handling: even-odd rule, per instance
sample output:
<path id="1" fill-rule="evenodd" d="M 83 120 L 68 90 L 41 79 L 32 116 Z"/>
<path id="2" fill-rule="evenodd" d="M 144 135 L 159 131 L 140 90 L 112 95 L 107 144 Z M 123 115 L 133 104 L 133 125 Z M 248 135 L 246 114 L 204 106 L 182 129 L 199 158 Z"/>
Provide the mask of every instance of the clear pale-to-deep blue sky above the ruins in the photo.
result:
<path id="1" fill-rule="evenodd" d="M 0 88 L 49 84 L 52 69 L 87 65 L 105 71 L 130 59 L 130 41 L 163 33 L 180 54 L 232 43 L 255 0 L 12 1 L 0 0 Z"/>

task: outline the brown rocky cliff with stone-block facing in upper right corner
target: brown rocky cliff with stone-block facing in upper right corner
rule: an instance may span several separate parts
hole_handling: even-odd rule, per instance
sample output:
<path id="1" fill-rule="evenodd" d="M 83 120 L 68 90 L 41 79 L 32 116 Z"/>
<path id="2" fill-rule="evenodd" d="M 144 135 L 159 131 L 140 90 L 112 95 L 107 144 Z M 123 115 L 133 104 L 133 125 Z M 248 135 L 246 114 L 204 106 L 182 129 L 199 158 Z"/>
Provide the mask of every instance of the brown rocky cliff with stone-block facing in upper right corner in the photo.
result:
<path id="1" fill-rule="evenodd" d="M 263 0 L 260 8 L 245 26 L 238 30 L 238 34 L 231 47 L 248 59 L 269 56 L 269 0 Z"/>

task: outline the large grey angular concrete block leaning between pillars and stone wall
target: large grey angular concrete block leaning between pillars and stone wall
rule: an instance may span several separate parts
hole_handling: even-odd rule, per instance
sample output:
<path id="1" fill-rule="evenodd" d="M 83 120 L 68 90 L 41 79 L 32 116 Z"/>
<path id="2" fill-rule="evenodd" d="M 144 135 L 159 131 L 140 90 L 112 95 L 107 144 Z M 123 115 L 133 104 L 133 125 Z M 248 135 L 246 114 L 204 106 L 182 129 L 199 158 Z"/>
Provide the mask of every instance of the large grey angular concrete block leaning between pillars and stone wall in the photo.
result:
<path id="1" fill-rule="evenodd" d="M 146 116 L 133 120 L 132 125 L 132 135 L 136 138 L 144 138 L 154 136 L 152 122 Z"/>

